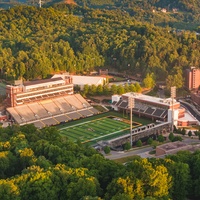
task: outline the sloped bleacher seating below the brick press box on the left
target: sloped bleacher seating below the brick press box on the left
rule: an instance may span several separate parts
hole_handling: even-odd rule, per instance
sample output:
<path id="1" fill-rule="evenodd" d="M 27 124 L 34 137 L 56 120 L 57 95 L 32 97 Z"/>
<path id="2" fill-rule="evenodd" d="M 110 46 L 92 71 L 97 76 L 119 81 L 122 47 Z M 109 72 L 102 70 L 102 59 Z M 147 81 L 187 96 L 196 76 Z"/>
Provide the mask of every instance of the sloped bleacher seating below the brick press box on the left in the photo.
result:
<path id="1" fill-rule="evenodd" d="M 63 95 L 7 108 L 19 125 L 33 123 L 38 128 L 98 114 L 80 94 Z"/>

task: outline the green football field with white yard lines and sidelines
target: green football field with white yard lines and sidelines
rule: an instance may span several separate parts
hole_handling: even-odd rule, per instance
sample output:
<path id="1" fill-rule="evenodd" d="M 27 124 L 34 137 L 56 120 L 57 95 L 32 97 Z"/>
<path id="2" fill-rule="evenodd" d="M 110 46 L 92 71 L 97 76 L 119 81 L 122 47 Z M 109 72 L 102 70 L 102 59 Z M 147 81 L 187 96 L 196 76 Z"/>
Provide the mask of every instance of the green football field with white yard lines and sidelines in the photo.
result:
<path id="1" fill-rule="evenodd" d="M 141 125 L 141 123 L 134 122 L 133 128 Z M 127 134 L 129 130 L 129 120 L 118 116 L 105 116 L 90 121 L 77 121 L 76 124 L 60 128 L 60 133 L 74 142 L 80 140 L 82 143 L 96 143 Z"/>

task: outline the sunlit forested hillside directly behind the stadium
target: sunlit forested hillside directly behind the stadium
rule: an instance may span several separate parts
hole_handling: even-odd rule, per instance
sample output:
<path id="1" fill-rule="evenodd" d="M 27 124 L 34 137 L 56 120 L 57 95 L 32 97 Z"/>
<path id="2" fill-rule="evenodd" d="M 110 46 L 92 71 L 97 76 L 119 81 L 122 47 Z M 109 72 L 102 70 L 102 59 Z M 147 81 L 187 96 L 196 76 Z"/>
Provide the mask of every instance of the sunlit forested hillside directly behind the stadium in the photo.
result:
<path id="1" fill-rule="evenodd" d="M 8 80 L 109 68 L 180 88 L 184 69 L 200 66 L 196 32 L 139 22 L 121 10 L 21 6 L 2 10 L 0 19 L 1 77 Z"/>

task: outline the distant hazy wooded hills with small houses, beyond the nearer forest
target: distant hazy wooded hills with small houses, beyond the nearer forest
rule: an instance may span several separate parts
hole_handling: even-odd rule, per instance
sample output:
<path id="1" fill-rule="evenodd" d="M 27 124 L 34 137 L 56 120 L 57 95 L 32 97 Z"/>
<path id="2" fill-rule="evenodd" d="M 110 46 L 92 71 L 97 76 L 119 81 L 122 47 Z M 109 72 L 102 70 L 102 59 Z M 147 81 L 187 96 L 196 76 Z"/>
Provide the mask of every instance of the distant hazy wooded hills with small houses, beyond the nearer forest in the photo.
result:
<path id="1" fill-rule="evenodd" d="M 136 20 L 159 26 L 199 30 L 200 3 L 198 0 L 44 0 L 43 7 L 67 3 L 84 8 L 122 10 Z M 16 5 L 39 6 L 39 0 L 0 0 L 0 7 Z M 166 9 L 166 13 L 162 12 Z"/>

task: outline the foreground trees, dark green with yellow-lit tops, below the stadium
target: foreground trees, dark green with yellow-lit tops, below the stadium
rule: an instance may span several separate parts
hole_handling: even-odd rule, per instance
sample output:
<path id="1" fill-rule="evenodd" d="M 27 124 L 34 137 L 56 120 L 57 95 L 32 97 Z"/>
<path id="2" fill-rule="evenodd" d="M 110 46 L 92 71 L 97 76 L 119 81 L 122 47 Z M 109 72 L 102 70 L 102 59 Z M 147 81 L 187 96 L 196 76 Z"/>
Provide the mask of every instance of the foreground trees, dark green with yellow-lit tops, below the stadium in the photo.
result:
<path id="1" fill-rule="evenodd" d="M 200 152 L 126 165 L 60 136 L 55 127 L 0 128 L 0 199 L 133 200 L 200 198 Z"/>

